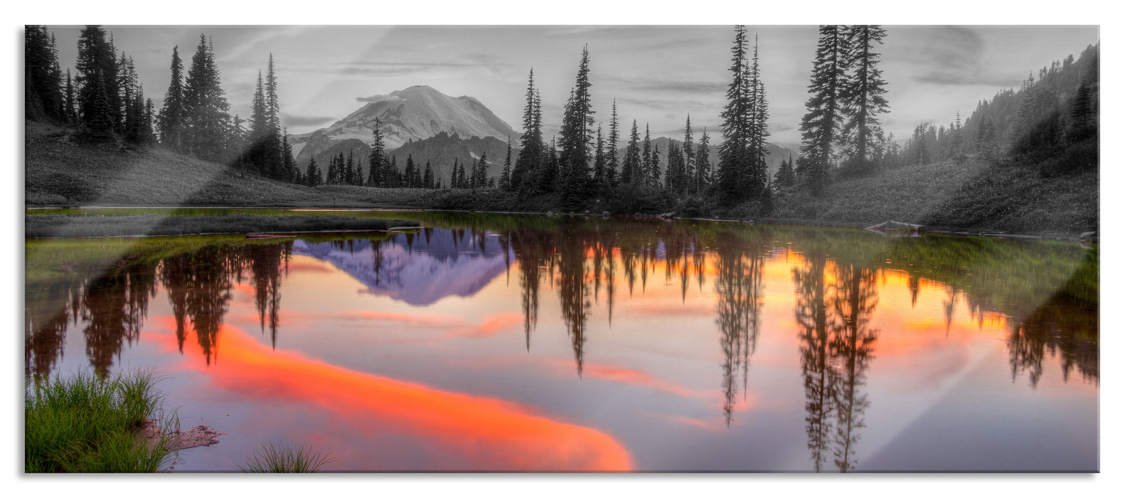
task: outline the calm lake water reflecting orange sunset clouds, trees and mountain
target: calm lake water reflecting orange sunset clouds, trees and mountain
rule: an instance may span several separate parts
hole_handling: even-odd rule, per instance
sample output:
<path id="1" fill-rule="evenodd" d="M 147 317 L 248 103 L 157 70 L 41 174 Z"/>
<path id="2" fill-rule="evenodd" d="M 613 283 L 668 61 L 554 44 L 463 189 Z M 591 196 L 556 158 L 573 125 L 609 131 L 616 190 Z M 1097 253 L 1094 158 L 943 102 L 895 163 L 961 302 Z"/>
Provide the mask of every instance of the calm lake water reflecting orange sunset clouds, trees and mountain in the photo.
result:
<path id="1" fill-rule="evenodd" d="M 1098 469 L 1096 248 L 348 214 L 426 228 L 28 241 L 27 376 L 159 370 L 177 471 Z"/>

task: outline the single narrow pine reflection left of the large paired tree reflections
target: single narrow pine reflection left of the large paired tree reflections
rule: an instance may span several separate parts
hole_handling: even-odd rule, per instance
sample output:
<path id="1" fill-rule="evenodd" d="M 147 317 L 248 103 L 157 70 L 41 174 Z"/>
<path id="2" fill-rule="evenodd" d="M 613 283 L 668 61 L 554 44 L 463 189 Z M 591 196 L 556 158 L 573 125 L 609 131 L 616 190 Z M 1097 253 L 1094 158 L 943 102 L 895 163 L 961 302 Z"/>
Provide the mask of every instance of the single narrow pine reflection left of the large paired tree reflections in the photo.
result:
<path id="1" fill-rule="evenodd" d="M 741 371 L 745 392 L 749 358 L 757 347 L 763 259 L 760 255 L 744 255 L 735 243 L 720 243 L 719 247 L 716 292 L 719 294 L 719 344 L 724 358 L 722 412 L 730 426 L 738 393 L 736 374 Z"/>

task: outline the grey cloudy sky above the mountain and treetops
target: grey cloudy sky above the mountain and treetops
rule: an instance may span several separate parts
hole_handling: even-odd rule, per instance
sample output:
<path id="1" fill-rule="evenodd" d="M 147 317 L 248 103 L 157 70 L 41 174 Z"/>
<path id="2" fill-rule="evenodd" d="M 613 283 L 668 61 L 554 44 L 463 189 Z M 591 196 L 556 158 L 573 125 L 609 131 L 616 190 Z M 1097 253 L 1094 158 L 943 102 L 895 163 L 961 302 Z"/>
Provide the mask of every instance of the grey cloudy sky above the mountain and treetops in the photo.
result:
<path id="1" fill-rule="evenodd" d="M 1028 71 L 1099 42 L 1097 26 L 884 26 L 878 51 L 898 139 L 918 123 L 966 117 L 981 99 L 1018 87 Z M 172 47 L 188 65 L 200 34 L 213 38 L 233 114 L 250 114 L 258 71 L 273 54 L 282 122 L 290 133 L 325 127 L 363 99 L 414 85 L 480 100 L 521 128 L 529 70 L 542 92 L 548 134 L 557 131 L 583 46 L 591 56 L 595 119 L 608 125 L 613 99 L 622 123 L 644 133 L 718 134 L 730 81 L 732 26 L 106 26 L 134 60 L 159 107 Z M 60 63 L 73 66 L 79 26 L 51 26 Z M 817 26 L 747 26 L 759 43 L 771 141 L 800 142 L 798 126 L 817 44 Z"/>

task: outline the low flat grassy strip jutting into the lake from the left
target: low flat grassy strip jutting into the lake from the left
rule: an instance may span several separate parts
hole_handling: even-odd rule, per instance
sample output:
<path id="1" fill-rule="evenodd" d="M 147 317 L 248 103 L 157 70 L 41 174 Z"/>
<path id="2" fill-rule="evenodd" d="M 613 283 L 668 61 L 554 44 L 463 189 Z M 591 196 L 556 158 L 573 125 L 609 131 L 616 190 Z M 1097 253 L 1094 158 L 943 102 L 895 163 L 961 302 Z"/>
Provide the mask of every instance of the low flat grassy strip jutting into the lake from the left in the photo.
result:
<path id="1" fill-rule="evenodd" d="M 162 216 L 136 215 L 25 215 L 25 237 L 187 235 L 195 233 L 297 233 L 321 231 L 376 231 L 417 226 L 405 220 L 351 216 L 258 216 L 253 214 Z"/>

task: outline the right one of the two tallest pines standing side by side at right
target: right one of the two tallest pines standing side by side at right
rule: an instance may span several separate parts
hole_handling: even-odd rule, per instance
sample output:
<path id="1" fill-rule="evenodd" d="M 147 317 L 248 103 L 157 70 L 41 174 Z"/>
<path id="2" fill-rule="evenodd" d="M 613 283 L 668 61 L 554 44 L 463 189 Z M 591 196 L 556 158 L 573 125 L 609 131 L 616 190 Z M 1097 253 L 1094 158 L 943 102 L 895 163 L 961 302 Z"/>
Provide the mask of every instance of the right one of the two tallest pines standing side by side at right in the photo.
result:
<path id="1" fill-rule="evenodd" d="M 886 113 L 886 81 L 879 69 L 875 44 L 882 45 L 886 30 L 875 25 L 854 25 L 845 30 L 849 48 L 847 66 L 852 75 L 845 80 L 840 99 L 847 114 L 844 136 L 847 164 L 857 172 L 872 170 L 871 149 L 881 133 L 879 115 Z"/>

